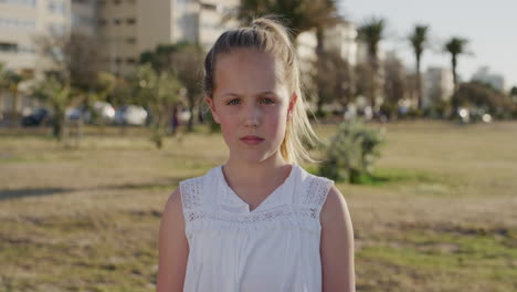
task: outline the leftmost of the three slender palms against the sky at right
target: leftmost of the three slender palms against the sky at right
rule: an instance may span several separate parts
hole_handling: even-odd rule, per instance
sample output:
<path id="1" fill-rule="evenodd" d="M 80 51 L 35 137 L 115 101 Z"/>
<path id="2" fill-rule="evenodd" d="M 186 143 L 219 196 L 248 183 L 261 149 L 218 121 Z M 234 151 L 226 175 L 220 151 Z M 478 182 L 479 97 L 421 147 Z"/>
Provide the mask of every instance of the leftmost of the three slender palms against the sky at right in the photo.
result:
<path id="1" fill-rule="evenodd" d="M 379 92 L 379 42 L 384 36 L 386 21 L 382 18 L 371 18 L 358 28 L 358 38 L 366 43 L 368 50 L 369 64 L 372 71 L 371 74 L 371 90 L 370 90 L 370 102 L 371 107 L 376 106 L 376 97 Z"/>

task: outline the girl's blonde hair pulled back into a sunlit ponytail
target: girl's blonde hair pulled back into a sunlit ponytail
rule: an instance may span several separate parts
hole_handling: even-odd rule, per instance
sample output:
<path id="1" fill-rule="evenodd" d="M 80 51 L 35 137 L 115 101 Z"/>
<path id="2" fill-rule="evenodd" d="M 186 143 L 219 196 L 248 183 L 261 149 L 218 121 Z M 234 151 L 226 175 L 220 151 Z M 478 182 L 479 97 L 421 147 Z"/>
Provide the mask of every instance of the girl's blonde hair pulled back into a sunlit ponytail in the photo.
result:
<path id="1" fill-rule="evenodd" d="M 289 96 L 298 96 L 292 116 L 287 122 L 285 137 L 281 145 L 282 157 L 287 163 L 315 161 L 305 145 L 314 145 L 319 139 L 316 136 L 305 111 L 302 95 L 302 81 L 296 50 L 291 41 L 287 29 L 274 17 L 255 19 L 251 27 L 229 30 L 221 34 L 210 49 L 204 60 L 204 92 L 210 98 L 215 88 L 215 62 L 221 54 L 235 49 L 254 49 L 271 53 L 282 64 L 283 81 L 289 90 Z"/>

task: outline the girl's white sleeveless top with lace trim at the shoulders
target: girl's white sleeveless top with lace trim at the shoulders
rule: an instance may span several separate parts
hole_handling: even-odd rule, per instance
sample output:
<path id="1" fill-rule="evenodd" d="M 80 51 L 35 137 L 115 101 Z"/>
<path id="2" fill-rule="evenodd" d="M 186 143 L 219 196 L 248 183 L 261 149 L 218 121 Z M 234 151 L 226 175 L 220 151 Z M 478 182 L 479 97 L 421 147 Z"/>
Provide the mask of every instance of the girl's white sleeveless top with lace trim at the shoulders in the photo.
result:
<path id="1" fill-rule="evenodd" d="M 181 181 L 190 249 L 183 291 L 321 291 L 319 213 L 333 184 L 293 165 L 250 211 L 222 166 Z"/>

